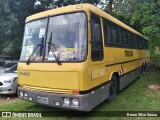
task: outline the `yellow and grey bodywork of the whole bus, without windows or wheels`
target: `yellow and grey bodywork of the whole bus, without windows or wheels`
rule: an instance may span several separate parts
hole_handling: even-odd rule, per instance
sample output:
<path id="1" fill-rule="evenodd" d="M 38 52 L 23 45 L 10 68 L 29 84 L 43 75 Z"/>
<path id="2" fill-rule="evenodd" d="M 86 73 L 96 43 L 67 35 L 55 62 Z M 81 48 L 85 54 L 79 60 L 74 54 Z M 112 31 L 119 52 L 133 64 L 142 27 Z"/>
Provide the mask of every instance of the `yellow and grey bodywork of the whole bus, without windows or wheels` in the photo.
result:
<path id="1" fill-rule="evenodd" d="M 78 11 L 85 12 L 88 19 L 87 58 L 80 62 L 62 62 L 62 65 L 45 61 L 31 62 L 29 65 L 20 62 L 18 64 L 18 82 L 20 84 L 18 94 L 20 96 L 20 91 L 27 92 L 28 96 L 32 98 L 20 96 L 21 99 L 65 109 L 90 111 L 108 98 L 110 80 L 113 75 L 117 75 L 118 87 L 121 90 L 140 76 L 143 64 L 149 63 L 149 50 L 105 45 L 104 34 L 106 33 L 103 31 L 102 18 L 106 18 L 136 35 L 144 36 L 95 6 L 84 4 L 49 10 L 29 16 L 26 22 Z M 91 12 L 100 16 L 101 19 L 104 57 L 99 61 L 91 59 Z M 73 91 L 79 93 L 73 94 Z M 46 97 L 48 103 L 40 103 L 37 96 L 42 99 Z M 69 98 L 70 102 L 78 99 L 79 106 L 75 107 L 71 104 L 65 106 L 64 98 Z M 60 105 L 56 105 L 55 102 L 59 102 Z"/>

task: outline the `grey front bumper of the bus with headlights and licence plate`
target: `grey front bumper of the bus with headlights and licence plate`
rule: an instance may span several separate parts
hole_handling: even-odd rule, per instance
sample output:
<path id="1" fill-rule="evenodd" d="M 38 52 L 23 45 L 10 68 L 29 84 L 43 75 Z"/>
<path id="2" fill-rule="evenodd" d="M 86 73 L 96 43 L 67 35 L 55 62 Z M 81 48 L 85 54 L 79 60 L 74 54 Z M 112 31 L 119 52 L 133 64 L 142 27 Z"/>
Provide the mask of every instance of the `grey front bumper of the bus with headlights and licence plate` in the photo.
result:
<path id="1" fill-rule="evenodd" d="M 25 93 L 27 93 L 27 97 L 24 97 L 24 96 L 21 97 L 20 91 L 24 91 Z M 89 111 L 89 104 L 88 104 L 89 103 L 89 94 L 86 94 L 86 95 L 56 94 L 56 93 L 40 92 L 40 91 L 36 91 L 36 90 L 29 90 L 29 89 L 24 89 L 24 88 L 18 87 L 18 96 L 19 96 L 19 98 L 30 101 L 30 102 L 48 105 L 48 106 L 52 106 L 52 107 Z M 48 98 L 48 103 L 45 104 L 45 103 L 38 102 L 39 96 Z M 32 100 L 29 100 L 29 97 L 32 98 Z M 66 106 L 66 105 L 64 105 L 64 103 L 63 103 L 64 98 L 78 99 L 79 106 L 73 106 L 73 105 Z M 55 102 L 59 102 L 59 105 L 55 105 Z M 83 104 L 83 103 L 85 103 L 85 104 Z"/>

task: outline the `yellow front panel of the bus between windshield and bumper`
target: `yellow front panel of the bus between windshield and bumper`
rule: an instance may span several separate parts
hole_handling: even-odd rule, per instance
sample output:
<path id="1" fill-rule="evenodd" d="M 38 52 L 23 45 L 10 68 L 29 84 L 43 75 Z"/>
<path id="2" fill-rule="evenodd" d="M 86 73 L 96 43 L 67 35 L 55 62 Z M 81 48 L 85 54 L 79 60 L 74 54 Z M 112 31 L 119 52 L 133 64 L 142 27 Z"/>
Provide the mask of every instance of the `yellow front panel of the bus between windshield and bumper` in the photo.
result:
<path id="1" fill-rule="evenodd" d="M 76 65 L 75 65 L 76 64 Z M 38 66 L 38 67 L 37 67 Z M 88 90 L 91 73 L 84 63 L 26 63 L 18 64 L 18 82 L 36 88 Z M 29 73 L 29 75 L 25 75 Z M 56 84 L 55 84 L 56 83 Z M 85 84 L 84 84 L 85 83 Z M 45 91 L 45 89 L 43 89 Z"/>

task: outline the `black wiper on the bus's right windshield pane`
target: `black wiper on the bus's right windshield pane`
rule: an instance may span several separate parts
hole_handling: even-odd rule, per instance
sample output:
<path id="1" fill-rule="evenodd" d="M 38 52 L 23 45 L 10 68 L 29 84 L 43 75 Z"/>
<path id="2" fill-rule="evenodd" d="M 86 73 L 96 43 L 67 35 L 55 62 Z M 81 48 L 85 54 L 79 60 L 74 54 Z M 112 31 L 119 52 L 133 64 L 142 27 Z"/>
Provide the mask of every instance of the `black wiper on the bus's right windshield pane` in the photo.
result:
<path id="1" fill-rule="evenodd" d="M 53 50 L 54 49 L 54 50 Z M 53 50 L 53 56 L 54 56 L 54 58 L 55 58 L 55 60 L 56 60 L 56 63 L 58 64 L 58 65 L 62 65 L 61 64 L 61 62 L 59 61 L 59 57 L 58 57 L 58 55 L 56 55 L 54 52 L 57 50 L 56 49 L 56 46 L 54 45 L 54 43 L 52 43 L 52 32 L 51 32 L 51 35 L 50 35 L 50 38 L 49 38 L 49 42 L 48 42 L 48 54 L 49 54 L 49 52 L 50 51 L 52 51 Z"/>

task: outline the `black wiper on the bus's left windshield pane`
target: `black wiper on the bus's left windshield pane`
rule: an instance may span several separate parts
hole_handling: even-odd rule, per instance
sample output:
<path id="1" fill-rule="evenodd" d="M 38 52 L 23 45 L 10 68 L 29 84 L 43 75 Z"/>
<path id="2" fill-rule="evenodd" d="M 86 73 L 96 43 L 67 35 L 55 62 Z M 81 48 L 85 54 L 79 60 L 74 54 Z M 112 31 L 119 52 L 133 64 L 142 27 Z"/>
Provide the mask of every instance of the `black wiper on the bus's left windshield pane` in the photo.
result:
<path id="1" fill-rule="evenodd" d="M 34 55 L 34 53 L 37 51 L 37 49 L 40 47 L 40 56 L 42 56 L 42 51 L 43 51 L 43 43 L 44 43 L 44 37 L 42 37 L 41 39 L 41 44 L 37 44 L 37 46 L 35 47 L 35 49 L 33 50 L 33 52 L 31 53 L 31 55 L 28 57 L 28 60 L 26 62 L 27 65 L 29 65 L 32 56 Z M 37 57 L 37 55 L 35 56 L 35 58 Z M 33 61 L 35 60 L 35 58 L 33 59 Z"/>

